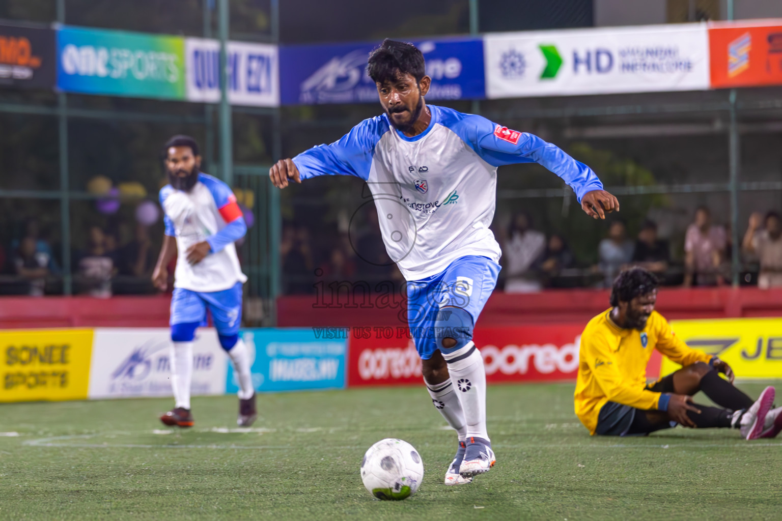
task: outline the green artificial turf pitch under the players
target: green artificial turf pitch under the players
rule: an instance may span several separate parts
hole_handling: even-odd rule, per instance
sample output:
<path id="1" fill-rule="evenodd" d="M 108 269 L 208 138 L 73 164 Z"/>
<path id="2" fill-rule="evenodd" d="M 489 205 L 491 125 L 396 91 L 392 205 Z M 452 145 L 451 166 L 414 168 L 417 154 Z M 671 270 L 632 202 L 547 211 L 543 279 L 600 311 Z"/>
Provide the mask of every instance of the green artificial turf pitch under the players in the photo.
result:
<path id="1" fill-rule="evenodd" d="M 782 439 L 590 437 L 572 388 L 490 387 L 497 466 L 460 487 L 443 485 L 455 434 L 422 387 L 261 395 L 249 432 L 235 432 L 231 396 L 195 398 L 190 430 L 156 419 L 168 399 L 0 405 L 0 519 L 782 518 Z M 361 484 L 364 451 L 384 437 L 424 460 L 405 501 Z"/>

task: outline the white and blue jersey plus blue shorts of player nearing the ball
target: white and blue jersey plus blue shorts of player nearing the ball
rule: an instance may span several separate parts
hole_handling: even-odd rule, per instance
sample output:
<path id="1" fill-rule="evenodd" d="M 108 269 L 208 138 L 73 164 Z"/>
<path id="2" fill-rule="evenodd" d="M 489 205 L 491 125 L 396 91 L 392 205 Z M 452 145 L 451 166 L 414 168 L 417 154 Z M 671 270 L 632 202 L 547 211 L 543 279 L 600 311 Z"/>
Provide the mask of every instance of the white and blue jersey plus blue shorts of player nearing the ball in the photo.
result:
<path id="1" fill-rule="evenodd" d="M 489 226 L 498 166 L 537 162 L 565 180 L 579 202 L 603 189 L 588 166 L 540 137 L 426 106 L 432 120 L 417 136 L 405 136 L 382 114 L 293 158 L 302 180 L 345 174 L 367 181 L 386 251 L 408 281 L 408 323 L 421 359 L 468 344 L 497 284 L 500 246 Z M 443 306 L 454 308 L 439 313 Z M 443 348 L 437 331 L 457 331 L 456 346 Z"/>

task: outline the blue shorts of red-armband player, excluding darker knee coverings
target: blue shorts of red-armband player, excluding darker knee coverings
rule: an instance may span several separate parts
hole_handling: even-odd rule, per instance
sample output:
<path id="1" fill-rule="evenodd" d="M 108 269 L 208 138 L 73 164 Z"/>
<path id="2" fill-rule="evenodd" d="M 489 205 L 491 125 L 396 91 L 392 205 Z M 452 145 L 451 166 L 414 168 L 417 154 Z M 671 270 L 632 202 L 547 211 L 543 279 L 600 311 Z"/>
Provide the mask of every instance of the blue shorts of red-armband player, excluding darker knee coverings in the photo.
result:
<path id="1" fill-rule="evenodd" d="M 242 283 L 223 291 L 190 291 L 174 288 L 171 295 L 170 325 L 198 322 L 206 326 L 206 309 L 212 315 L 217 334 L 231 336 L 239 333 L 242 323 Z"/>

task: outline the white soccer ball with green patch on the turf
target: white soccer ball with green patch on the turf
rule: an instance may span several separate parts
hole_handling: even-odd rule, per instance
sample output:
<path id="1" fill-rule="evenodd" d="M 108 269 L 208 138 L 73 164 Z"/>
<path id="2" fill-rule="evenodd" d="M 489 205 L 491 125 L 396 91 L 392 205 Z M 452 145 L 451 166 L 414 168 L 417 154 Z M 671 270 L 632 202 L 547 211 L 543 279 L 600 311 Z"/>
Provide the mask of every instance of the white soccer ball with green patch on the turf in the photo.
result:
<path id="1" fill-rule="evenodd" d="M 424 464 L 407 441 L 386 438 L 372 445 L 361 462 L 361 480 L 378 499 L 409 498 L 424 479 Z"/>

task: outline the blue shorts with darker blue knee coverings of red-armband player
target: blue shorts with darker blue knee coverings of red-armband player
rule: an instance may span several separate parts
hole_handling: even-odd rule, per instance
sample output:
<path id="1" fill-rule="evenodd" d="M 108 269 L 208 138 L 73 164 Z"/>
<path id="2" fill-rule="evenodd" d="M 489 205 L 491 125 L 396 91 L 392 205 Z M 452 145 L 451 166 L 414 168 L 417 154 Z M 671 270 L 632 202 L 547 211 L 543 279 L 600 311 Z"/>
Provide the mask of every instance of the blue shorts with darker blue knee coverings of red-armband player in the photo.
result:
<path id="1" fill-rule="evenodd" d="M 239 338 L 242 323 L 242 283 L 223 291 L 191 291 L 175 287 L 171 295 L 171 340 L 192 341 L 195 329 L 206 326 L 206 310 L 212 316 L 221 346 L 230 350 Z"/>

